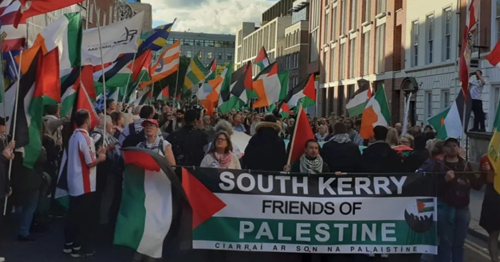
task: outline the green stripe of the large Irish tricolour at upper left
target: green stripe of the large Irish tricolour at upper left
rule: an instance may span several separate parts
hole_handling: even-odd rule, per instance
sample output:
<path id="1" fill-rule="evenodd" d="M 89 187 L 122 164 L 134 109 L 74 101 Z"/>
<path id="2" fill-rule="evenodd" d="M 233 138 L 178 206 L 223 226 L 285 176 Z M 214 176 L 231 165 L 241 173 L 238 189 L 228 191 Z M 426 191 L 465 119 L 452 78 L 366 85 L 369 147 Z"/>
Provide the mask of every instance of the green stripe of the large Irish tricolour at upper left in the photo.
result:
<path id="1" fill-rule="evenodd" d="M 64 14 L 68 20 L 67 25 L 67 43 L 69 62 L 72 67 L 79 66 L 81 63 L 81 39 L 82 27 L 80 13 Z"/>

